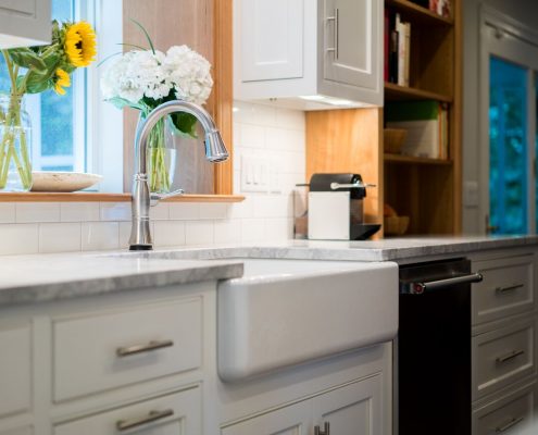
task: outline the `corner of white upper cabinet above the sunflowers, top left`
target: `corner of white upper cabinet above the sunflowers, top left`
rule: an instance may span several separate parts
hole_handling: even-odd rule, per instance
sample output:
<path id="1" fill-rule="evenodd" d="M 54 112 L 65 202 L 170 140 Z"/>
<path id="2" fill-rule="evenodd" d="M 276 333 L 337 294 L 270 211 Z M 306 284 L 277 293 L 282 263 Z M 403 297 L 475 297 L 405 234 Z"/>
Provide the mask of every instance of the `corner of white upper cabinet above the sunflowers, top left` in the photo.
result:
<path id="1" fill-rule="evenodd" d="M 50 44 L 50 0 L 0 0 L 0 48 Z"/>

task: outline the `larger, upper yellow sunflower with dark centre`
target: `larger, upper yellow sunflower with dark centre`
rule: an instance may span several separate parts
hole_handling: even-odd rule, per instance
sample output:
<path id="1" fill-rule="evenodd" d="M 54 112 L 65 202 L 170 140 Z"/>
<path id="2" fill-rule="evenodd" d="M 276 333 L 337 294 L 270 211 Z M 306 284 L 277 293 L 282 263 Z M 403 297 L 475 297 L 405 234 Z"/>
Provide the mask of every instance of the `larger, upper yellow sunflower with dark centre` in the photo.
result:
<path id="1" fill-rule="evenodd" d="M 64 50 L 70 63 L 75 66 L 88 66 L 95 61 L 96 33 L 90 24 L 82 21 L 67 26 Z"/>

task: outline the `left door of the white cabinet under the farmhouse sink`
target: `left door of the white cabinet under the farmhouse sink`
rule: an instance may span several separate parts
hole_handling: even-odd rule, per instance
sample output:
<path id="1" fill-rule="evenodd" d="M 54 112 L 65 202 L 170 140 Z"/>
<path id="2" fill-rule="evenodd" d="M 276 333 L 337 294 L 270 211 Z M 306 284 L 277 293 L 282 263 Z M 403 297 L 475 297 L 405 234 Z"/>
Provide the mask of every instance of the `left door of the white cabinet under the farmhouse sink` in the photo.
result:
<path id="1" fill-rule="evenodd" d="M 312 400 L 304 400 L 234 424 L 222 435 L 311 435 Z"/>

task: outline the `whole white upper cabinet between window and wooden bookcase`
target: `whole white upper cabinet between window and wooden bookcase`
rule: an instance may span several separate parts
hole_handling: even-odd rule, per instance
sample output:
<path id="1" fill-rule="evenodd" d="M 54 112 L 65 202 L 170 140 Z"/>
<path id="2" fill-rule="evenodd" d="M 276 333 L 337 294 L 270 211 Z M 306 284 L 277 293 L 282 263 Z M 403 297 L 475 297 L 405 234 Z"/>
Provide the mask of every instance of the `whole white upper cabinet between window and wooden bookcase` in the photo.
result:
<path id="1" fill-rule="evenodd" d="M 383 105 L 383 2 L 235 0 L 234 85 L 303 110 Z"/>

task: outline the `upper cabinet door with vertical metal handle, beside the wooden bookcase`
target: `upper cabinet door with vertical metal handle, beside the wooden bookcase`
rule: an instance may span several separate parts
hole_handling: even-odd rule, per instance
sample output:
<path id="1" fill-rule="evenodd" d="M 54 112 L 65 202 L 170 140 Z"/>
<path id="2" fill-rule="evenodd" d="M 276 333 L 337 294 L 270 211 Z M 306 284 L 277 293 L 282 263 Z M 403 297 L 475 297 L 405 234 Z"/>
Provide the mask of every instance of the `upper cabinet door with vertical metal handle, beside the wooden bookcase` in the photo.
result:
<path id="1" fill-rule="evenodd" d="M 324 0 L 324 79 L 377 89 L 378 0 Z"/>

